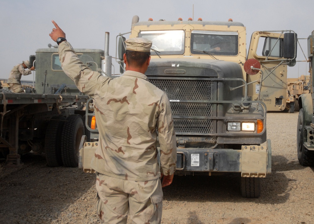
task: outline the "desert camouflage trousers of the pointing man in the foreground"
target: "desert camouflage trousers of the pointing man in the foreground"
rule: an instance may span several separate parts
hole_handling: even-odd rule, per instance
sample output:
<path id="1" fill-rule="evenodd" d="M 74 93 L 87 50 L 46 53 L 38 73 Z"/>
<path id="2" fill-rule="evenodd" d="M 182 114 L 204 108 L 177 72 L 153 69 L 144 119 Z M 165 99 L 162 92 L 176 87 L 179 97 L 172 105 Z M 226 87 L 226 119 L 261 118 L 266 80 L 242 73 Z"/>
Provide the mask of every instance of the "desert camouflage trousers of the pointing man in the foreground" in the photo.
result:
<path id="1" fill-rule="evenodd" d="M 127 213 L 133 223 L 161 222 L 162 198 L 160 179 L 149 181 L 123 180 L 97 173 L 97 212 L 103 223 L 127 223 Z"/>

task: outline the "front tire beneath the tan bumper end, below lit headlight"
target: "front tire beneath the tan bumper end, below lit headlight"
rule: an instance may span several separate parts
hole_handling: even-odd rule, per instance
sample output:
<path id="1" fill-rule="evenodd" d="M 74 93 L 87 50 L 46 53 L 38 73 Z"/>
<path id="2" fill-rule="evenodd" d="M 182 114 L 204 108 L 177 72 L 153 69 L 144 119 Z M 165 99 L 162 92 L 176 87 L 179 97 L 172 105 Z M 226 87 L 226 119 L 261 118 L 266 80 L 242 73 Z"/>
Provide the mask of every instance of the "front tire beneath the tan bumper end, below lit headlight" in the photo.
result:
<path id="1" fill-rule="evenodd" d="M 261 178 L 241 177 L 241 193 L 245 198 L 258 198 L 261 195 Z"/>

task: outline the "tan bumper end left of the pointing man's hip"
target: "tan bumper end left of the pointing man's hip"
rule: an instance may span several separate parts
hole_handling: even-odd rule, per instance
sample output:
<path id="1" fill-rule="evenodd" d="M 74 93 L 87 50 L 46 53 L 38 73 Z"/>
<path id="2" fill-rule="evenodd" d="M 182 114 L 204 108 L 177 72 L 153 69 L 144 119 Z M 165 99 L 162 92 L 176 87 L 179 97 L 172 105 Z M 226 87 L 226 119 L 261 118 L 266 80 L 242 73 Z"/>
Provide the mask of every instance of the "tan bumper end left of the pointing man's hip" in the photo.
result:
<path id="1" fill-rule="evenodd" d="M 78 168 L 83 169 L 84 173 L 96 173 L 91 168 L 92 158 L 95 156 L 95 150 L 98 146 L 98 141 L 86 142 L 87 137 L 82 136 L 79 146 Z"/>

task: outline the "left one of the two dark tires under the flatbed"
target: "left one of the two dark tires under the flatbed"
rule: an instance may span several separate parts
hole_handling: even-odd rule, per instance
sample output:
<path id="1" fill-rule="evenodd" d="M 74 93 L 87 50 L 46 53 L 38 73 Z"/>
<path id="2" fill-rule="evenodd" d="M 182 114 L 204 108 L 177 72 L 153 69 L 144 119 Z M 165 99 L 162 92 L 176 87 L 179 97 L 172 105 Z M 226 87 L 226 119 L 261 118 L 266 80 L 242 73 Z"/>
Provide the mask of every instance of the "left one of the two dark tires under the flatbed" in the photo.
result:
<path id="1" fill-rule="evenodd" d="M 62 166 L 60 140 L 62 134 L 62 127 L 65 117 L 53 117 L 46 129 L 44 151 L 46 154 L 47 165 L 50 167 Z"/>

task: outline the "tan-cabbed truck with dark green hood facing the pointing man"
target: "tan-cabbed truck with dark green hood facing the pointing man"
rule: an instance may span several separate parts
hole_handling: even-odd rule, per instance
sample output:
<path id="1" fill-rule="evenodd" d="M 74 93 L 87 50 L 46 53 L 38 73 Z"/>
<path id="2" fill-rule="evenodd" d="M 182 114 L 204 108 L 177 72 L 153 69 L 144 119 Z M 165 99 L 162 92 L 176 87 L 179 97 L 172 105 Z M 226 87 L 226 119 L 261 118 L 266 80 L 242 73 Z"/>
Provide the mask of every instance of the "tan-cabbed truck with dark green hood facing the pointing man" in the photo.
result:
<path id="1" fill-rule="evenodd" d="M 284 76 L 277 77 L 274 67 L 286 70 L 294 60 L 296 34 L 255 32 L 248 58 L 246 29 L 239 22 L 139 22 L 134 16 L 129 38 L 133 37 L 153 42 L 145 74 L 170 99 L 177 138 L 175 174 L 239 173 L 242 196 L 259 197 L 261 178 L 271 173 L 266 104 L 278 101 L 277 108 L 285 107 L 284 97 L 278 96 L 279 102 L 263 88 L 270 85 L 269 79 L 280 79 L 286 91 Z M 123 35 L 116 38 L 118 62 L 125 49 L 123 40 Z M 252 89 L 254 94 L 249 95 Z M 86 113 L 93 115 L 92 110 Z M 94 127 L 88 127 L 91 135 L 97 134 L 97 123 Z M 97 137 L 91 139 L 94 142 L 81 141 L 79 167 L 84 172 L 94 172 L 90 160 L 98 142 Z"/>

